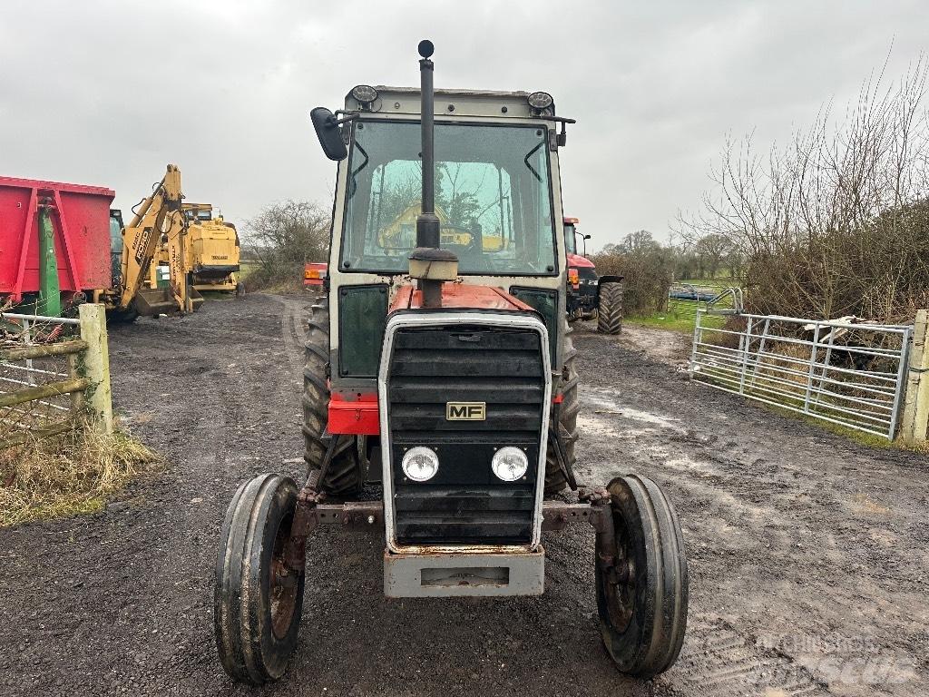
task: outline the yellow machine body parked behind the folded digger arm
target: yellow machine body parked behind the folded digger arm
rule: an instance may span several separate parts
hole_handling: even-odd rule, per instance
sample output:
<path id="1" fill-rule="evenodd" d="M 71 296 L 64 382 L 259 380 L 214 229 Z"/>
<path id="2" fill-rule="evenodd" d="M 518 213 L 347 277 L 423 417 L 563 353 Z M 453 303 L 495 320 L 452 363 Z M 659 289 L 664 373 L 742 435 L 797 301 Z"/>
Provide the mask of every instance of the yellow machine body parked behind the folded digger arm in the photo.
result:
<path id="1" fill-rule="evenodd" d="M 211 204 L 182 204 L 187 220 L 187 236 L 182 259 L 195 291 L 235 293 L 239 285 L 239 233 L 223 217 L 213 217 Z M 155 263 L 149 272 L 149 286 L 169 283 L 170 252 L 162 238 Z"/>

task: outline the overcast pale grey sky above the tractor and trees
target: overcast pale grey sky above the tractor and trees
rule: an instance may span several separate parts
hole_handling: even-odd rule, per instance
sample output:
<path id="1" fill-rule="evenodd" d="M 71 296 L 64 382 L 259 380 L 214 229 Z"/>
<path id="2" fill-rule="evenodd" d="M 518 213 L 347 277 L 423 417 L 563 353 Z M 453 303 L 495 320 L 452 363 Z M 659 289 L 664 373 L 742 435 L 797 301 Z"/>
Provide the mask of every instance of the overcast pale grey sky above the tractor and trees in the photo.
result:
<path id="1" fill-rule="evenodd" d="M 545 90 L 576 118 L 565 212 L 595 246 L 667 239 L 727 133 L 765 144 L 929 44 L 926 0 L 532 3 L 3 0 L 0 175 L 108 186 L 128 209 L 171 162 L 190 201 L 242 223 L 327 208 L 334 164 L 307 114 L 353 85 Z"/>

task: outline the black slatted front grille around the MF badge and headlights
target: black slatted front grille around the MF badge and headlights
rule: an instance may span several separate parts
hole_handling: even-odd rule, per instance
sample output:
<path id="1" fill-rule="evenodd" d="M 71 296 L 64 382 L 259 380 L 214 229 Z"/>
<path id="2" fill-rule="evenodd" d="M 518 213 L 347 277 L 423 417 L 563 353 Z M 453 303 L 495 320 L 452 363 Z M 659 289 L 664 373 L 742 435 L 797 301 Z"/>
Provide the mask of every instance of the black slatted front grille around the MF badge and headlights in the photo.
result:
<path id="1" fill-rule="evenodd" d="M 505 545 L 530 542 L 545 375 L 540 335 L 486 326 L 401 328 L 387 378 L 389 447 L 400 545 Z M 487 405 L 483 421 L 446 420 L 449 401 Z M 425 445 L 438 474 L 405 480 L 400 461 Z M 525 450 L 525 480 L 491 472 L 496 448 Z"/>

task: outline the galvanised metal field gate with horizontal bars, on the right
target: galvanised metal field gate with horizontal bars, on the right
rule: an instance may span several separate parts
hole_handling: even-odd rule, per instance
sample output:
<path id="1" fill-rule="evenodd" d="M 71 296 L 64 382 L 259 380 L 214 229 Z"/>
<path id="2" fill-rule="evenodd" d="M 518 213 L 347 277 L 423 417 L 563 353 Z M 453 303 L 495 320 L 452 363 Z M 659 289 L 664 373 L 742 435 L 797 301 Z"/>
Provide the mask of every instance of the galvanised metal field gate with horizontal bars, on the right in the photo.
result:
<path id="1" fill-rule="evenodd" d="M 694 326 L 693 380 L 893 440 L 912 327 L 742 314 L 717 328 L 704 316 Z"/>

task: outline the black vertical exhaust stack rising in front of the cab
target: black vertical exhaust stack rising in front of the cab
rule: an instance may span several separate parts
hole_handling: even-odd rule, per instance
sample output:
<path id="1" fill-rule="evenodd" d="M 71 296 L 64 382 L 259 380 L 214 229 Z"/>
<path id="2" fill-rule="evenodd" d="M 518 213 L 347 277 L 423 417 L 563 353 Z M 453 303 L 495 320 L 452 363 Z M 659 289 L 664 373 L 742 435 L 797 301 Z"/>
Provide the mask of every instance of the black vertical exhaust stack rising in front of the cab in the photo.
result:
<path id="1" fill-rule="evenodd" d="M 430 57 L 435 47 L 432 42 L 419 42 L 419 61 L 422 124 L 423 195 L 422 212 L 416 217 L 416 248 L 410 255 L 410 275 L 419 281 L 423 291 L 423 307 L 442 306 L 442 283 L 458 277 L 458 257 L 439 249 L 440 230 L 436 215 L 436 153 L 433 124 L 434 99 L 432 76 L 434 64 Z"/>

